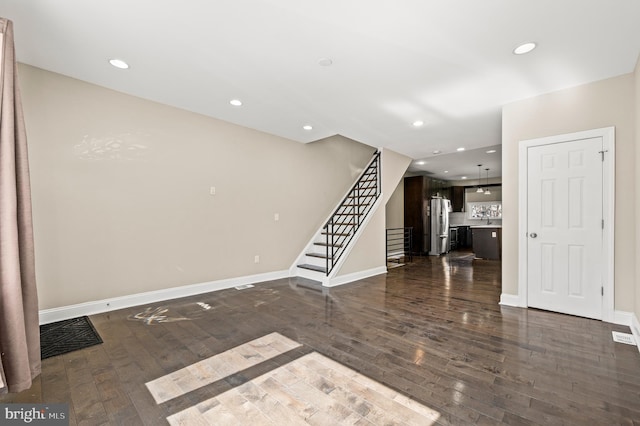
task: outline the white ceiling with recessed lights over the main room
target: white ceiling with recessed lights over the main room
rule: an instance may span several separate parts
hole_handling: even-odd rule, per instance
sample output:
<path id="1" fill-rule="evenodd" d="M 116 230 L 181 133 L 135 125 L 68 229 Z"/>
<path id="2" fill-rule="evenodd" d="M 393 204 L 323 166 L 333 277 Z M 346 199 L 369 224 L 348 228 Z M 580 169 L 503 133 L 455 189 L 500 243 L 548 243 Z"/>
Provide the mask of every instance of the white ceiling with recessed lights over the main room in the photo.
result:
<path id="1" fill-rule="evenodd" d="M 640 52 L 636 0 L 0 0 L 0 15 L 20 62 L 416 160 L 499 145 L 502 105 L 629 73 Z M 527 41 L 538 48 L 512 54 Z M 456 174 L 477 174 L 473 156 L 459 162 Z"/>

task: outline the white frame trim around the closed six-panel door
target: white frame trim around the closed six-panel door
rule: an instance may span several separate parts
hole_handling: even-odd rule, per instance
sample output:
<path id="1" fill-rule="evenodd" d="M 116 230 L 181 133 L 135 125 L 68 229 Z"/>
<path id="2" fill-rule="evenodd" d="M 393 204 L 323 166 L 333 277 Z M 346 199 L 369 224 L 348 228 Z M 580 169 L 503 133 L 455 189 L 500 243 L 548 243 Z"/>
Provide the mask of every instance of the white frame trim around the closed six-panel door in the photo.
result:
<path id="1" fill-rule="evenodd" d="M 602 168 L 602 276 L 604 288 L 602 299 L 602 321 L 614 322 L 614 264 L 615 264 L 615 127 L 586 130 L 576 133 L 554 135 L 543 138 L 522 140 L 518 147 L 518 298 L 522 307 L 528 307 L 528 253 L 527 253 L 527 213 L 529 175 L 527 154 L 534 146 L 571 142 L 580 139 L 602 138 L 604 161 Z"/>

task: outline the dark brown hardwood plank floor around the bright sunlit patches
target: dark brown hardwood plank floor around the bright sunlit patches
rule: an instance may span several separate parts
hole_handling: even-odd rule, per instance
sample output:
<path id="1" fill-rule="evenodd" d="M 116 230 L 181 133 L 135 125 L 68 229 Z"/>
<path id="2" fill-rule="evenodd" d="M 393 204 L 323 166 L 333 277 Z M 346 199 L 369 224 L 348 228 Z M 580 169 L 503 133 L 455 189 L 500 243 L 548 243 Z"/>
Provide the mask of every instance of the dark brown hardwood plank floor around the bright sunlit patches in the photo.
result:
<path id="1" fill-rule="evenodd" d="M 640 353 L 611 336 L 627 327 L 501 307 L 499 261 L 450 262 L 418 257 L 331 289 L 293 278 L 94 315 L 103 344 L 44 360 L 31 390 L 0 402 L 67 402 L 72 425 L 167 424 L 317 352 L 437 411 L 436 424 L 640 424 Z M 145 385 L 273 332 L 302 346 L 159 404 Z"/>

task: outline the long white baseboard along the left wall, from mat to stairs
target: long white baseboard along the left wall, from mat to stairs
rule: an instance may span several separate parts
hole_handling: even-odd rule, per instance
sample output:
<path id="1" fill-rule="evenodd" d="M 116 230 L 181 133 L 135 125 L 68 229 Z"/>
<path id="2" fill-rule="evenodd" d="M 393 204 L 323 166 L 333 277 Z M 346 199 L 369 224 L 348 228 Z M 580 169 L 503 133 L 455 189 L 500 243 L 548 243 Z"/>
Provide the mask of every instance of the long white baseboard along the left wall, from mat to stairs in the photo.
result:
<path id="1" fill-rule="evenodd" d="M 245 277 L 229 278 L 219 281 L 209 281 L 205 283 L 166 288 L 162 290 L 131 294 L 110 299 L 95 300 L 86 303 L 79 303 L 77 305 L 61 306 L 59 308 L 43 309 L 40 311 L 40 324 L 48 324 L 50 322 L 62 321 L 65 319 L 76 318 L 84 315 L 93 315 L 102 312 L 115 311 L 117 309 L 156 303 L 164 300 L 195 296 L 198 294 L 232 288 L 239 285 L 256 284 L 259 282 L 287 278 L 288 276 L 289 271 L 267 272 L 264 274 L 248 275 Z"/>

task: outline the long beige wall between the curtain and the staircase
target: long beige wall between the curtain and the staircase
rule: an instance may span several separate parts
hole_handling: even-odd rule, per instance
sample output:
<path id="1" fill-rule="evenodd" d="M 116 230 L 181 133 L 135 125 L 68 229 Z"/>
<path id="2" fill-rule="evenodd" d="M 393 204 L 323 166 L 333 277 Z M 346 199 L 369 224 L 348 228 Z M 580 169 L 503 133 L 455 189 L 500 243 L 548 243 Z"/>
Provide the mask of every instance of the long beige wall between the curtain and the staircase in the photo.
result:
<path id="1" fill-rule="evenodd" d="M 41 309 L 287 270 L 375 151 L 299 144 L 25 65 L 19 78 Z"/>

